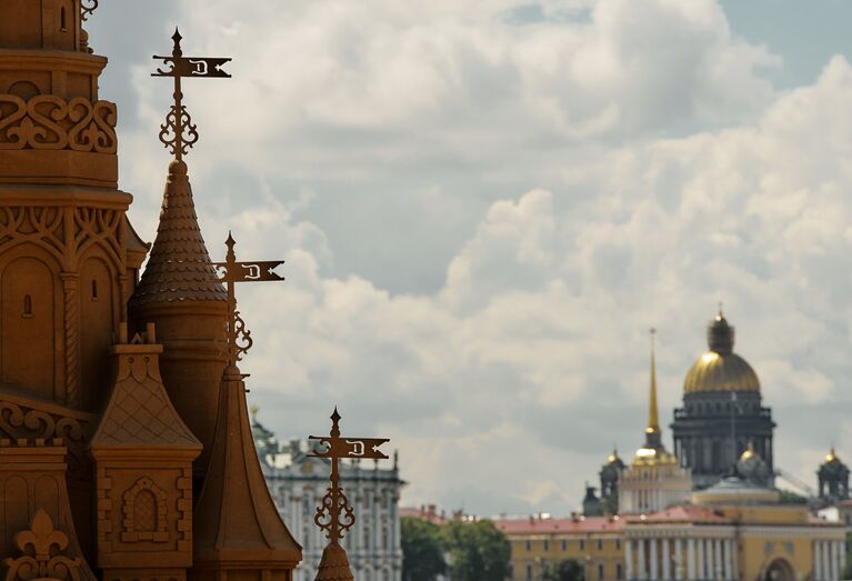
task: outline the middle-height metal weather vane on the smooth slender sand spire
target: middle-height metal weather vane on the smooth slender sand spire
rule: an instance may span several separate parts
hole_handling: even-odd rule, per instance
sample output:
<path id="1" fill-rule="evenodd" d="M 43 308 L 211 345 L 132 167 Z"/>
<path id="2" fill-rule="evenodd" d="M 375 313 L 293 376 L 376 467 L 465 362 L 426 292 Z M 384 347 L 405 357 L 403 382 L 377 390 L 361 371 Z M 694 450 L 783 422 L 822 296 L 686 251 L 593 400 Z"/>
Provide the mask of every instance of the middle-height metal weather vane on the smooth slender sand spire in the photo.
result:
<path id="1" fill-rule="evenodd" d="M 225 261 L 217 262 L 213 267 L 219 272 L 219 280 L 228 286 L 228 365 L 230 367 L 241 361 L 242 355 L 254 343 L 251 331 L 245 328 L 245 321 L 237 310 L 234 286 L 238 282 L 282 281 L 284 277 L 278 274 L 275 269 L 284 261 L 237 262 L 237 253 L 233 250 L 237 242 L 230 232 L 228 232 L 225 246 L 228 247 Z"/>

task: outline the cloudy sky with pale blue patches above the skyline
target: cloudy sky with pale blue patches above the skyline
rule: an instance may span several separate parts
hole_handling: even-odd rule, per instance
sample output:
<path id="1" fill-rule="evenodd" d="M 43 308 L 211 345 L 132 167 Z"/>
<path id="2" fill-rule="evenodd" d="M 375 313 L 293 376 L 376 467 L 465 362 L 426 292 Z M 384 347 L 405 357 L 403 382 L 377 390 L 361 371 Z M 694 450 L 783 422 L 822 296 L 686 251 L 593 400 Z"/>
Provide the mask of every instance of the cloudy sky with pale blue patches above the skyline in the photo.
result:
<path id="1" fill-rule="evenodd" d="M 208 246 L 285 258 L 241 289 L 243 370 L 282 439 L 399 448 L 404 504 L 565 514 L 661 409 L 724 301 L 813 482 L 852 459 L 852 40 L 844 0 L 101 2 L 121 186 L 156 232 L 170 98 L 188 83 Z M 666 430 L 666 442 L 671 442 Z"/>

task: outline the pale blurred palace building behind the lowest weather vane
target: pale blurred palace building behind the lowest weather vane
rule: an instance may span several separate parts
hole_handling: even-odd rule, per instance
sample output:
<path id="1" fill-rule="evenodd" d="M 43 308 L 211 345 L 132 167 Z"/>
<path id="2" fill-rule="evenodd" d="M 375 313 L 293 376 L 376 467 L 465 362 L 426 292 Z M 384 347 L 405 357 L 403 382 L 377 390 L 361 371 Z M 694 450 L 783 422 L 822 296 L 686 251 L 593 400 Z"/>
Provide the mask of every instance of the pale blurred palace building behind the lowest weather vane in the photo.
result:
<path id="1" fill-rule="evenodd" d="M 308 457 L 307 441 L 282 444 L 258 421 L 257 413 L 254 408 L 252 434 L 267 484 L 281 517 L 303 549 L 304 557 L 293 572 L 293 581 L 313 581 L 327 542 L 313 518 L 329 487 L 329 461 Z M 340 484 L 357 518 L 341 541 L 355 579 L 401 581 L 399 499 L 405 483 L 399 477 L 397 454 L 391 468 L 378 462 L 341 461 Z"/>

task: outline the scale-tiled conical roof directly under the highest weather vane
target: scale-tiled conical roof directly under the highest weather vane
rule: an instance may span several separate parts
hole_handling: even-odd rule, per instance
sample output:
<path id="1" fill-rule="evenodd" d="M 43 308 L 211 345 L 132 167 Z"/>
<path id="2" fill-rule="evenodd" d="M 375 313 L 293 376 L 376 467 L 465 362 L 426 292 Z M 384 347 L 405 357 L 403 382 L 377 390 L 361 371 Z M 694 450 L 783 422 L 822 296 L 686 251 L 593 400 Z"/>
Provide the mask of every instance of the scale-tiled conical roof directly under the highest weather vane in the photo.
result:
<path id="1" fill-rule="evenodd" d="M 157 239 L 131 304 L 227 300 L 198 224 L 187 164 L 172 161 Z"/>

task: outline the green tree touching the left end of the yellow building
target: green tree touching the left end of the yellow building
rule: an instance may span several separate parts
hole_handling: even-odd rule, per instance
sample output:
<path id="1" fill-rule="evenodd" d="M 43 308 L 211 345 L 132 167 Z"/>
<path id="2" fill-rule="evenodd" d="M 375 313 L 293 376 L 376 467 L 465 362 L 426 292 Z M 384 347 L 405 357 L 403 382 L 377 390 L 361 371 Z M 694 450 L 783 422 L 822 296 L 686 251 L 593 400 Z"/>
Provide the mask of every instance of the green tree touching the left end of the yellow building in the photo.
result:
<path id="1" fill-rule="evenodd" d="M 505 534 L 489 520 L 452 521 L 443 528 L 452 581 L 504 581 L 511 548 Z"/>

